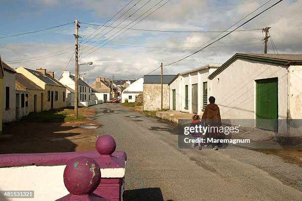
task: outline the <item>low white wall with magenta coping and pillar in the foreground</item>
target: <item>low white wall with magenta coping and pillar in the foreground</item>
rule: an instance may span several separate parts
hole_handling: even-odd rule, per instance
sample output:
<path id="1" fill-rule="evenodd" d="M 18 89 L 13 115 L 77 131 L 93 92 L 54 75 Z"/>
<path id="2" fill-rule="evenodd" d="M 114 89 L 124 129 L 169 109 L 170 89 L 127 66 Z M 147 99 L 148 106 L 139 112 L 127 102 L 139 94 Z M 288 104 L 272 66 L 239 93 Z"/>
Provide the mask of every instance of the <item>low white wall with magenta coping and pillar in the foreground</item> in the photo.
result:
<path id="1" fill-rule="evenodd" d="M 123 151 L 114 151 L 110 157 L 97 151 L 0 155 L 0 191 L 34 191 L 35 198 L 31 201 L 59 199 L 69 194 L 63 182 L 65 166 L 79 156 L 98 161 L 102 179 L 94 193 L 111 201 L 122 200 L 126 164 L 126 153 Z"/>

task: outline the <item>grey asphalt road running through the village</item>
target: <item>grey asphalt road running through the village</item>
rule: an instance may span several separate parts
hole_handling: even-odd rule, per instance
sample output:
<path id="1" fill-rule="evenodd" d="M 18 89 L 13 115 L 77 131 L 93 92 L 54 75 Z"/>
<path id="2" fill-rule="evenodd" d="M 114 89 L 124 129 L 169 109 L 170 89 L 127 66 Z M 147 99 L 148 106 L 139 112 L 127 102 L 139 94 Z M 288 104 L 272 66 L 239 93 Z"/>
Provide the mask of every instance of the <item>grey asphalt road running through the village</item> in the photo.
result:
<path id="1" fill-rule="evenodd" d="M 302 171 L 234 146 L 178 149 L 177 127 L 119 104 L 94 106 L 102 134 L 127 153 L 126 201 L 300 201 Z"/>

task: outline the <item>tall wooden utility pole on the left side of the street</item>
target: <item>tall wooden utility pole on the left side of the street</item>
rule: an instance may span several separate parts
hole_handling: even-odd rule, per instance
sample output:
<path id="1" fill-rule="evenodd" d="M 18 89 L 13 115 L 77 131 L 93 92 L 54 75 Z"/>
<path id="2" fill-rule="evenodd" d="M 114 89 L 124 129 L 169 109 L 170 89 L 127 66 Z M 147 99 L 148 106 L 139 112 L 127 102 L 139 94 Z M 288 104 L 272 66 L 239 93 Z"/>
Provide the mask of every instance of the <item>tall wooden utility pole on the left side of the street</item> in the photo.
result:
<path id="1" fill-rule="evenodd" d="M 78 25 L 78 21 L 75 21 L 76 24 L 76 34 L 75 34 L 75 38 L 76 38 L 76 50 L 75 50 L 75 57 L 76 57 L 76 62 L 75 62 L 75 116 L 76 118 L 78 117 L 78 113 L 77 113 L 77 102 L 78 102 L 78 58 L 77 58 L 77 54 L 78 54 L 78 43 L 77 43 L 77 39 L 78 39 L 78 28 L 80 27 Z"/>

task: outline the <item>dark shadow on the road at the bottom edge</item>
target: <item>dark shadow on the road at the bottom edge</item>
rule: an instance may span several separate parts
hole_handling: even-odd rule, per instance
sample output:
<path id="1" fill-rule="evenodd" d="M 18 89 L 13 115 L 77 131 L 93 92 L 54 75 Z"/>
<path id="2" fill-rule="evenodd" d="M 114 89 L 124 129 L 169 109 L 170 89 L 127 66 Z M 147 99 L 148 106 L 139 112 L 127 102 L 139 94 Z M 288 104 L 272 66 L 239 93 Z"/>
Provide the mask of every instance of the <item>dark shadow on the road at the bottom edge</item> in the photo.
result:
<path id="1" fill-rule="evenodd" d="M 160 188 L 144 188 L 144 189 L 133 189 L 133 190 L 125 191 L 124 201 L 164 201 L 164 200 Z"/>

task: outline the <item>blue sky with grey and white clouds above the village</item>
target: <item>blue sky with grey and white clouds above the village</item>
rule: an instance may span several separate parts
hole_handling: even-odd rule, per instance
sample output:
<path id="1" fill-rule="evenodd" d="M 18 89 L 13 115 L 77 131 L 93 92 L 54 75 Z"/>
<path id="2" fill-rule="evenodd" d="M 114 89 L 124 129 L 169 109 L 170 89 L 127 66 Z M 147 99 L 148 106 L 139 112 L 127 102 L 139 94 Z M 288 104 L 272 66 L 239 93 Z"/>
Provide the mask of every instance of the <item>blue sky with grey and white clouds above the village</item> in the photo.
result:
<path id="1" fill-rule="evenodd" d="M 220 34 L 216 31 L 227 30 L 267 0 L 167 1 L 0 0 L 2 60 L 13 68 L 46 68 L 55 71 L 56 78 L 60 77 L 65 68 L 74 74 L 73 22 L 78 19 L 81 23 L 79 63 L 93 62 L 92 66 L 80 66 L 80 73 L 85 73 L 86 80 L 92 82 L 96 76 L 109 78 L 112 75 L 116 79 L 140 78 L 158 68 L 161 62 L 169 64 L 195 48 L 204 46 L 205 42 Z M 236 26 L 277 1 L 270 0 Z M 164 4 L 165 2 L 167 3 Z M 121 10 L 125 5 L 127 6 Z M 163 6 L 160 7 L 161 5 Z M 137 23 L 158 7 L 158 10 Z M 264 35 L 257 29 L 266 26 L 271 27 L 269 33 L 279 53 L 301 53 L 301 8 L 302 0 L 283 0 L 240 28 L 255 31 L 234 32 L 199 53 L 164 67 L 164 74 L 177 74 L 209 63 L 224 63 L 236 52 L 263 53 Z M 120 12 L 115 15 L 118 11 Z M 150 32 L 96 26 L 105 22 L 106 26 L 111 27 L 130 28 L 134 25 L 133 29 L 182 32 Z M 14 36 L 63 24 L 68 25 Z M 274 53 L 270 40 L 268 53 Z M 152 74 L 159 73 L 158 69 Z"/>

